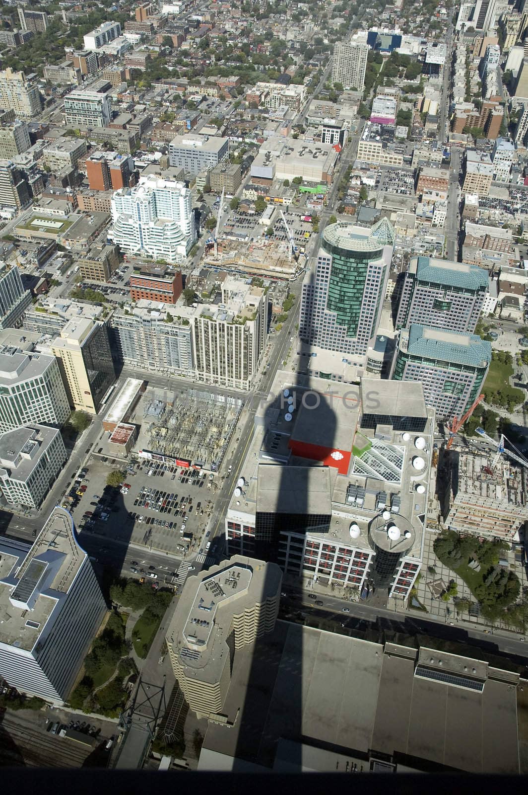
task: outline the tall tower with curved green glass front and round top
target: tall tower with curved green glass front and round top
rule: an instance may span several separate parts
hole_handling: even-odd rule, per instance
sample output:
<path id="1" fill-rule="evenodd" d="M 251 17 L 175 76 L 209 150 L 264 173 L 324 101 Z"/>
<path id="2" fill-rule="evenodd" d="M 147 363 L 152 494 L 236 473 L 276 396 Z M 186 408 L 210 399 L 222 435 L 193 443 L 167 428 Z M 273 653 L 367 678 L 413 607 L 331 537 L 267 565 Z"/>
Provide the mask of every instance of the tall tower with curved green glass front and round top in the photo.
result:
<path id="1" fill-rule="evenodd" d="M 299 335 L 329 351 L 364 355 L 376 337 L 395 233 L 382 219 L 371 229 L 333 223 L 322 233 L 314 273 L 301 293 Z"/>

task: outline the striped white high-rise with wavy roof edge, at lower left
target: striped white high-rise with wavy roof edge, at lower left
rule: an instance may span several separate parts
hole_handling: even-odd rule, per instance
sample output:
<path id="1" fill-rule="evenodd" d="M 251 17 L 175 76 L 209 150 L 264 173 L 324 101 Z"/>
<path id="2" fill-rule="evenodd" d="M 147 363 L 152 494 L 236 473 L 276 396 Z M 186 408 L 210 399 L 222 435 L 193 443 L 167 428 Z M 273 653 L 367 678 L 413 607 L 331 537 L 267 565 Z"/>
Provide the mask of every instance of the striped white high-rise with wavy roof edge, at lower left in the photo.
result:
<path id="1" fill-rule="evenodd" d="M 63 704 L 106 611 L 71 515 L 54 508 L 30 547 L 2 541 L 0 675 Z"/>

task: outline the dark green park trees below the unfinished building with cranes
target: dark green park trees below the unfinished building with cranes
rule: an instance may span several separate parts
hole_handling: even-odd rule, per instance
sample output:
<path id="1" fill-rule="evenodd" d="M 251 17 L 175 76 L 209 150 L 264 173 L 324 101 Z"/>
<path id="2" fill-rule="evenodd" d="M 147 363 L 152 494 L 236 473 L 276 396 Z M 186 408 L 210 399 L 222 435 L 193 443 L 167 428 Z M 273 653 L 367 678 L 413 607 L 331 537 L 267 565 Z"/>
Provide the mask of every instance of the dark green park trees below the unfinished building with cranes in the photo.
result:
<path id="1" fill-rule="evenodd" d="M 497 566 L 499 557 L 506 551 L 507 545 L 503 541 L 480 542 L 476 537 L 463 537 L 453 530 L 442 533 L 434 542 L 437 558 L 468 582 L 480 604 L 481 614 L 491 621 L 503 618 L 505 608 L 515 603 L 521 590 L 518 576 Z M 475 579 L 477 572 L 467 568 L 471 559 L 480 564 L 478 580 Z"/>

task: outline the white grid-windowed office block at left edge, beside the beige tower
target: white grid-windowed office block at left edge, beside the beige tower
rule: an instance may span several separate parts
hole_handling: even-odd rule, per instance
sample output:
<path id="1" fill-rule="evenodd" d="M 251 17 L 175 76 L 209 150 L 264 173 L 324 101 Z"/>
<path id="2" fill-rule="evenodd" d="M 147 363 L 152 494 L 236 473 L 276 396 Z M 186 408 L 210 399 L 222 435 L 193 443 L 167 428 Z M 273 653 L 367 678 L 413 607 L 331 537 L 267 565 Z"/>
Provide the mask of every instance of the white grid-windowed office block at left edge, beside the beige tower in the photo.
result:
<path id="1" fill-rule="evenodd" d="M 55 357 L 37 351 L 39 334 L 0 332 L 0 432 L 21 425 L 62 427 L 70 416 Z"/>

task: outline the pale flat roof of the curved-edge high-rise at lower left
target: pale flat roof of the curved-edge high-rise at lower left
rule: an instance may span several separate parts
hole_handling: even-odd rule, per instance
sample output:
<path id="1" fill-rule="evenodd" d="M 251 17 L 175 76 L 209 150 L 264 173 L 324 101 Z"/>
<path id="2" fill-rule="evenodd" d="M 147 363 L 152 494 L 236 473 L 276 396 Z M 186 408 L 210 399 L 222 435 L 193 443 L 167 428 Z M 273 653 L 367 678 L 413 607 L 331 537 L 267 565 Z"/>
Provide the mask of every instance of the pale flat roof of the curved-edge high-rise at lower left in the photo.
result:
<path id="1" fill-rule="evenodd" d="M 0 543 L 0 642 L 33 650 L 86 560 L 67 510 L 55 507 L 32 546 Z"/>

